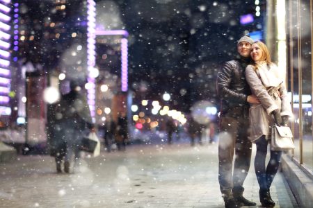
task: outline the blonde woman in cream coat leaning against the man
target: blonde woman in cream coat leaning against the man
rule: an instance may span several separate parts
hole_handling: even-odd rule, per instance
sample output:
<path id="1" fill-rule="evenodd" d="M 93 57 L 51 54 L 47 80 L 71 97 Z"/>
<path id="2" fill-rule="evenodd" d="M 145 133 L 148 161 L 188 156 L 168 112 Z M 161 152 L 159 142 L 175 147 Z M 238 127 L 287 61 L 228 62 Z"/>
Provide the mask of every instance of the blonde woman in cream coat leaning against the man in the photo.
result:
<path id="1" fill-rule="evenodd" d="M 263 42 L 252 44 L 252 64 L 246 68 L 246 80 L 261 104 L 250 105 L 250 139 L 257 146 L 255 173 L 259 183 L 259 200 L 263 207 L 274 207 L 270 187 L 280 165 L 281 150 L 271 150 L 271 158 L 265 166 L 267 146 L 271 138 L 271 126 L 287 125 L 292 116 L 291 105 L 284 87 L 282 71 L 271 62 Z"/>

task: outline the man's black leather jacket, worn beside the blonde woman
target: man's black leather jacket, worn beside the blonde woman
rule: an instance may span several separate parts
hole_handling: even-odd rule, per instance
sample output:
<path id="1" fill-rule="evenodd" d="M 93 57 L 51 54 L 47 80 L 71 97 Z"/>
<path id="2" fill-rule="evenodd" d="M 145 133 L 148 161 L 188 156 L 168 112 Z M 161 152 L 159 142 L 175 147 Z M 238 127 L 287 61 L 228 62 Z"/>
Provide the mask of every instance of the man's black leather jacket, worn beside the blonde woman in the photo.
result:
<path id="1" fill-rule="evenodd" d="M 246 81 L 245 71 L 250 59 L 237 59 L 225 62 L 218 71 L 217 92 L 220 98 L 220 116 L 248 118 L 248 95 L 250 87 Z"/>

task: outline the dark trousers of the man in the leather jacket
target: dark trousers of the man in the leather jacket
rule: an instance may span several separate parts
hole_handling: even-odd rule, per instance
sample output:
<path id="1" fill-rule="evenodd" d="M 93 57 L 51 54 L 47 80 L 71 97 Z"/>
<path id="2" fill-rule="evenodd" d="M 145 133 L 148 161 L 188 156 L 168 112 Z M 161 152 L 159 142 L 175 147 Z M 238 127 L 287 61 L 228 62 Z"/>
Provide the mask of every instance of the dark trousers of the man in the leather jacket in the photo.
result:
<path id="1" fill-rule="evenodd" d="M 218 181 L 224 200 L 241 196 L 243 182 L 250 168 L 252 143 L 248 139 L 249 119 L 223 116 L 220 118 L 218 142 Z M 234 153 L 234 173 L 232 164 Z"/>

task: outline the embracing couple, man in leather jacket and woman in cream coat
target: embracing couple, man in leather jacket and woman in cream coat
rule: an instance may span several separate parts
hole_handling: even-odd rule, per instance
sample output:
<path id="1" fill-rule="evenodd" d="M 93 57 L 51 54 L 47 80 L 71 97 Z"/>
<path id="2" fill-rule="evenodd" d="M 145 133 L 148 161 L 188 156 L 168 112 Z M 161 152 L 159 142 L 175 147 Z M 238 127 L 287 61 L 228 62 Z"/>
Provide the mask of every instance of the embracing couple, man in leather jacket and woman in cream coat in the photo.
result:
<path id="1" fill-rule="evenodd" d="M 245 35 L 237 42 L 239 58 L 225 62 L 218 72 L 220 98 L 220 138 L 218 181 L 225 207 L 256 206 L 243 197 L 243 182 L 250 168 L 252 142 L 257 146 L 255 173 L 259 200 L 263 207 L 274 207 L 270 188 L 280 166 L 282 151 L 266 154 L 270 126 L 287 125 L 292 115 L 282 69 L 271 62 L 263 42 Z M 235 157 L 234 157 L 235 155 Z M 233 168 L 234 159 L 234 168 Z"/>

